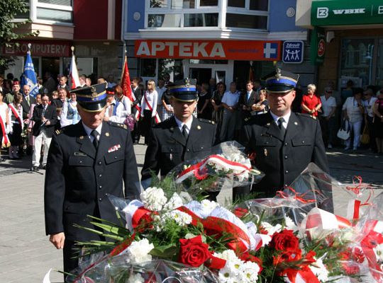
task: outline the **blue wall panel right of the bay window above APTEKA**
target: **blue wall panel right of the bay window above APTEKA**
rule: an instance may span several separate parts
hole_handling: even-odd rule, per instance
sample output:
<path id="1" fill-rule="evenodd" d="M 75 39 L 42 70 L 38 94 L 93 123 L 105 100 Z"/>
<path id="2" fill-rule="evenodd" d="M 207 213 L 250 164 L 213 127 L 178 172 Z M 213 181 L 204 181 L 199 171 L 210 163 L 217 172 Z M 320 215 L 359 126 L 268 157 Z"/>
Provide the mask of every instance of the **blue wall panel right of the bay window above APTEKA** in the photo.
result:
<path id="1" fill-rule="evenodd" d="M 294 10 L 296 11 L 296 0 L 270 1 L 270 33 L 305 30 L 295 25 L 295 15 L 292 17 L 287 16 L 286 12 L 287 9 L 290 7 L 294 8 Z"/>

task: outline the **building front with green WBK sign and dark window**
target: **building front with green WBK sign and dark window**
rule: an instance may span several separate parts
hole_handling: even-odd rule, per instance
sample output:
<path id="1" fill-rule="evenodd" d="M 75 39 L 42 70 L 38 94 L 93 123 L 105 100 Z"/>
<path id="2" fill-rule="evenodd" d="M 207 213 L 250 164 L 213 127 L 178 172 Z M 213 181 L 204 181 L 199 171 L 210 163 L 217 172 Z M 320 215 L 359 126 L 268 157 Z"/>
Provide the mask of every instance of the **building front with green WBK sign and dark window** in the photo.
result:
<path id="1" fill-rule="evenodd" d="M 340 91 L 383 86 L 383 2 L 298 0 L 296 25 L 324 35 L 326 52 L 318 66 L 319 91 L 333 81 Z"/>

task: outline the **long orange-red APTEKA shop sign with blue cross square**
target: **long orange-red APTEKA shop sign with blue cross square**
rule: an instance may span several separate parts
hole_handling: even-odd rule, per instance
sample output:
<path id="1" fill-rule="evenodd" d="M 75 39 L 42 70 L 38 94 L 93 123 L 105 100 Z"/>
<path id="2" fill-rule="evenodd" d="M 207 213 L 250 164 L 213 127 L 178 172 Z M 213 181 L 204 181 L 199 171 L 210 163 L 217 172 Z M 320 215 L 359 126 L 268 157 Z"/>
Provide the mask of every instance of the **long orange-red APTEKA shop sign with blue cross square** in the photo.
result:
<path id="1" fill-rule="evenodd" d="M 135 56 L 147 58 L 263 60 L 280 59 L 280 41 L 136 40 Z"/>

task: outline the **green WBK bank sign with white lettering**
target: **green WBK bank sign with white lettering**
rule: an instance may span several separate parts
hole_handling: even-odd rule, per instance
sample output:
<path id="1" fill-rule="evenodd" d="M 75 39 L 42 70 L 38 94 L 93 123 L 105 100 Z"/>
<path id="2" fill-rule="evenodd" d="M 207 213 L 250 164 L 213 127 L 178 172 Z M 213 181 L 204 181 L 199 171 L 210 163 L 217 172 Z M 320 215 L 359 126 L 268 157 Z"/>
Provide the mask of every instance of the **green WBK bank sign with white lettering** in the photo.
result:
<path id="1" fill-rule="evenodd" d="M 383 1 L 313 1 L 311 25 L 367 25 L 383 23 Z"/>

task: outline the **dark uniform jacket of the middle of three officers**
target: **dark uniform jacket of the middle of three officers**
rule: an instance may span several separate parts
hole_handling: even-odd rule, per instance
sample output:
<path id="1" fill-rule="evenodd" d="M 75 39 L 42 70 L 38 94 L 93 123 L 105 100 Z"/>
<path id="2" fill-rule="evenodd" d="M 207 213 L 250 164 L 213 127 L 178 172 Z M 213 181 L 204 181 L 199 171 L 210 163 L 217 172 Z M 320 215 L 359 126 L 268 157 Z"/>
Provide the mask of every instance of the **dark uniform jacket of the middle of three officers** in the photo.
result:
<path id="1" fill-rule="evenodd" d="M 166 175 L 183 161 L 209 154 L 216 142 L 216 125 L 213 123 L 193 117 L 187 141 L 174 117 L 152 127 L 142 180 L 151 177 L 150 171 Z"/>

